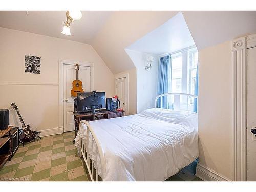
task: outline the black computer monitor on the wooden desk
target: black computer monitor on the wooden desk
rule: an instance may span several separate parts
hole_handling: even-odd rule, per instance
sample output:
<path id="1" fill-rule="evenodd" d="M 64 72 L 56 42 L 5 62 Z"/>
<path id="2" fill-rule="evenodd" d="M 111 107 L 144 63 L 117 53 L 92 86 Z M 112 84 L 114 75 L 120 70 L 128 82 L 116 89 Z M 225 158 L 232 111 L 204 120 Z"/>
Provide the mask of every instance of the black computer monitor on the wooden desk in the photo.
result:
<path id="1" fill-rule="evenodd" d="M 84 92 L 77 93 L 77 111 L 95 113 L 95 109 L 106 107 L 105 92 Z"/>

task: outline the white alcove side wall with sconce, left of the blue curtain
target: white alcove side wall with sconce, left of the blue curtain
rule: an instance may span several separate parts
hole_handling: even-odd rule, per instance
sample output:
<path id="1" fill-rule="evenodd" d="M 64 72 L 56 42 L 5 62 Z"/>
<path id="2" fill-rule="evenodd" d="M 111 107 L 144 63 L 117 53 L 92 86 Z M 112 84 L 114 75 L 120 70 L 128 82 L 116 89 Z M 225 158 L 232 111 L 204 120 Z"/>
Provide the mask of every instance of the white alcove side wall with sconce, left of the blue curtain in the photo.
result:
<path id="1" fill-rule="evenodd" d="M 153 56 L 152 67 L 148 71 L 145 66 L 148 65 L 147 57 L 149 54 L 125 49 L 126 53 L 132 59 L 136 66 L 137 76 L 137 113 L 153 108 L 157 96 L 157 74 L 158 74 L 158 57 Z"/>

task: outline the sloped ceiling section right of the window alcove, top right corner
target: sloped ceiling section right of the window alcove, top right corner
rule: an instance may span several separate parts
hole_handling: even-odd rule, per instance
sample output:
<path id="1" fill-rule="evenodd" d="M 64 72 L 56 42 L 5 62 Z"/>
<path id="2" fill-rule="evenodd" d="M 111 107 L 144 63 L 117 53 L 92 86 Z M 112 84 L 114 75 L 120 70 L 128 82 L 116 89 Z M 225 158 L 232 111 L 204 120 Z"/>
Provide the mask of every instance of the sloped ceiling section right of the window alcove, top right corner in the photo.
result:
<path id="1" fill-rule="evenodd" d="M 198 48 L 256 33 L 256 11 L 182 11 Z"/>

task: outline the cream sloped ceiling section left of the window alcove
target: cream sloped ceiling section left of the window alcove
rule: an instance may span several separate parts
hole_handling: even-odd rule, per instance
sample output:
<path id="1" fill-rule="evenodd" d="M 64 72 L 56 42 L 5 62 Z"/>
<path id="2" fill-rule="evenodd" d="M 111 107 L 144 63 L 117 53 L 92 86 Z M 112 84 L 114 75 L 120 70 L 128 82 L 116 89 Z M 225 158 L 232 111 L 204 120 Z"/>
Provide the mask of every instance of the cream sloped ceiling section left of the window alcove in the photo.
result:
<path id="1" fill-rule="evenodd" d="M 134 68 L 124 48 L 176 15 L 177 11 L 115 11 L 92 46 L 113 73 Z"/>

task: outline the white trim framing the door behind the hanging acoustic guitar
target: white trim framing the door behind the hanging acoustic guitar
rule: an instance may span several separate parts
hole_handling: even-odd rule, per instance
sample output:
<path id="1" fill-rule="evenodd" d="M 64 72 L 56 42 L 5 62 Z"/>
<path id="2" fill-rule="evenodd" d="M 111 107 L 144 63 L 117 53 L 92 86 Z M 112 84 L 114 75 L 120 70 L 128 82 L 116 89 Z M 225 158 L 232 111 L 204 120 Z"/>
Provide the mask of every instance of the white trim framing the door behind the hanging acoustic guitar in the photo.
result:
<path id="1" fill-rule="evenodd" d="M 59 104 L 58 104 L 58 111 L 59 111 L 59 120 L 58 124 L 61 129 L 59 129 L 59 134 L 63 133 L 64 130 L 64 113 L 63 113 L 63 67 L 64 65 L 75 65 L 79 63 L 80 66 L 90 67 L 90 76 L 91 76 L 91 91 L 94 90 L 94 63 L 91 62 L 82 62 L 82 61 L 71 61 L 71 60 L 64 60 L 59 59 Z"/>

